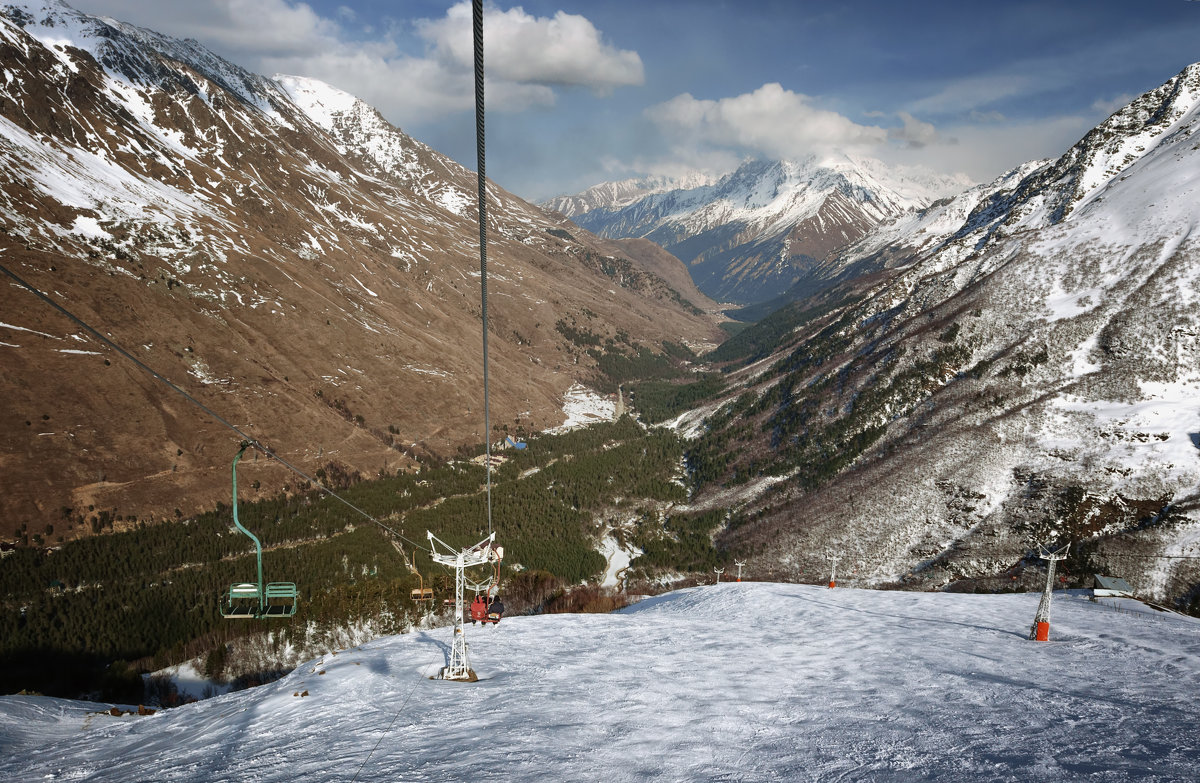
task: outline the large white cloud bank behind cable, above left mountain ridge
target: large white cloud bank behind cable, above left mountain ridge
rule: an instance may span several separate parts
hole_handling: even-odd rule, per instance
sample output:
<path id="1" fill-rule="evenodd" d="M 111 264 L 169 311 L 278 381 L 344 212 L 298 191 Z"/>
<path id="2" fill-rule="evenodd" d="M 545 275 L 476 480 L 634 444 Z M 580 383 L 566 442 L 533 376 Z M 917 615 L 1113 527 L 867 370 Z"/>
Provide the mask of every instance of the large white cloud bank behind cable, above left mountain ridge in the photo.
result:
<path id="1" fill-rule="evenodd" d="M 427 122 L 474 106 L 470 4 L 412 23 L 421 50 L 403 50 L 406 29 L 362 38 L 346 25 L 348 6 L 326 18 L 294 0 L 77 0 L 85 13 L 131 20 L 167 35 L 197 38 L 256 73 L 292 73 L 328 82 L 380 109 L 400 125 Z M 535 17 L 521 7 L 485 10 L 490 109 L 521 112 L 556 102 L 556 90 L 598 95 L 644 79 L 636 52 L 606 43 L 578 14 Z M 409 38 L 412 40 L 412 38 Z"/>

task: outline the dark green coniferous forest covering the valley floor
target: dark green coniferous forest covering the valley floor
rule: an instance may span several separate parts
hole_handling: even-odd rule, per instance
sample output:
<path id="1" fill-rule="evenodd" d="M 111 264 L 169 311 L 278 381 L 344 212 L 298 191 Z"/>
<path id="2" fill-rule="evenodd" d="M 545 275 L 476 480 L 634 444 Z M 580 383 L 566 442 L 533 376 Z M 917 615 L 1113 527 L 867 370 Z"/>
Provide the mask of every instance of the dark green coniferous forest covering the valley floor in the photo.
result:
<path id="1" fill-rule="evenodd" d="M 505 550 L 500 590 L 510 614 L 578 610 L 581 602 L 612 608 L 596 602 L 605 536 L 644 552 L 625 574 L 643 584 L 665 572 L 710 570 L 722 558 L 712 532 L 724 513 L 672 513 L 686 489 L 683 443 L 671 431 L 623 417 L 533 437 L 503 458 L 492 471 L 492 521 Z M 188 659 L 204 661 L 216 680 L 270 676 L 227 659 L 239 639 L 265 634 L 278 650 L 362 623 L 400 633 L 425 611 L 410 590 L 432 586 L 434 611 L 451 593 L 452 575 L 430 560 L 426 531 L 456 548 L 487 536 L 486 482 L 480 461 L 464 459 L 338 490 L 372 519 L 317 488 L 239 502 L 241 524 L 263 544 L 264 580 L 296 584 L 290 618 L 221 616 L 229 585 L 256 579 L 253 544 L 226 503 L 174 524 L 8 551 L 0 568 L 0 691 L 137 701 L 143 673 Z M 581 598 L 564 598 L 575 590 Z"/>

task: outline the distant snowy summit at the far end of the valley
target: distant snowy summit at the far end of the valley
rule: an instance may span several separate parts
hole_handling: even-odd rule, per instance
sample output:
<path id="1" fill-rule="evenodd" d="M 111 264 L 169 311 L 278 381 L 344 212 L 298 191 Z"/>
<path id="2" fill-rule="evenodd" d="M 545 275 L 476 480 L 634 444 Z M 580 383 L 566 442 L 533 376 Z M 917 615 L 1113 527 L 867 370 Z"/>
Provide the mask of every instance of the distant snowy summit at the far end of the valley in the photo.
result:
<path id="1" fill-rule="evenodd" d="M 882 221 L 970 185 L 961 174 L 834 155 L 746 161 L 719 179 L 605 183 L 542 205 L 602 237 L 655 241 L 709 297 L 750 304 L 780 295 Z"/>

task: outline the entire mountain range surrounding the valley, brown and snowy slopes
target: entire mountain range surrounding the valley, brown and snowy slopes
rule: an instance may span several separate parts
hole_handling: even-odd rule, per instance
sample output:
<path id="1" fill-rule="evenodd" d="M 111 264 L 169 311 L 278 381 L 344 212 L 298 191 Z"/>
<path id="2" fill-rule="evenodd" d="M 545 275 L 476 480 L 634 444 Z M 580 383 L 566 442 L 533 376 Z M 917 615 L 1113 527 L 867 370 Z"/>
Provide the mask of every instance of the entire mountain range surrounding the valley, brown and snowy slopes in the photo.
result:
<path id="1" fill-rule="evenodd" d="M 0 64 L 2 265 L 311 471 L 482 440 L 473 174 L 336 88 L 61 2 L 4 6 Z M 856 157 L 557 211 L 493 184 L 487 435 L 559 424 L 598 351 L 708 352 L 674 510 L 728 512 L 760 573 L 1001 590 L 1074 542 L 1075 578 L 1195 603 L 1198 127 L 1200 65 L 966 190 Z M 230 432 L 0 291 L 0 532 L 227 500 Z M 781 306 L 716 347 L 714 299 Z M 295 482 L 257 470 L 251 497 Z"/>

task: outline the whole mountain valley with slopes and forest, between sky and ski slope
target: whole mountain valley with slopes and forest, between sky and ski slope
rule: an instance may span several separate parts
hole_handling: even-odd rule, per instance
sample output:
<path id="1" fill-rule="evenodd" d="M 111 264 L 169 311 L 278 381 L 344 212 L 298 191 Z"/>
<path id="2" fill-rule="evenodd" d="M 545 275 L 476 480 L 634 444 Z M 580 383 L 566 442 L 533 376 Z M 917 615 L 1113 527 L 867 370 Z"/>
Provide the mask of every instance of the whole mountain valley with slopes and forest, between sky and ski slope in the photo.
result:
<path id="1" fill-rule="evenodd" d="M 251 635 L 212 605 L 253 558 L 230 425 L 370 512 L 239 468 L 305 593 L 289 655 L 416 627 L 412 537 L 484 537 L 493 478 L 515 611 L 739 562 L 1030 591 L 1064 545 L 1067 586 L 1200 611 L 1200 64 L 979 185 L 848 155 L 490 183 L 486 279 L 474 173 L 336 86 L 58 0 L 0 8 L 0 67 L 12 670 Z"/>

